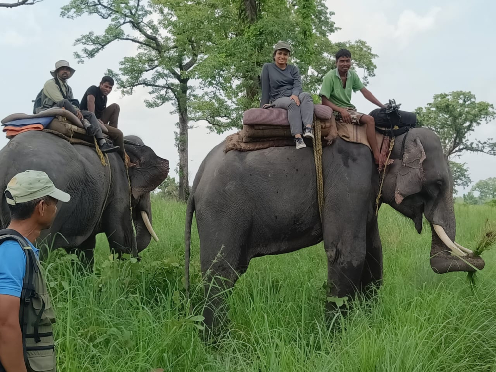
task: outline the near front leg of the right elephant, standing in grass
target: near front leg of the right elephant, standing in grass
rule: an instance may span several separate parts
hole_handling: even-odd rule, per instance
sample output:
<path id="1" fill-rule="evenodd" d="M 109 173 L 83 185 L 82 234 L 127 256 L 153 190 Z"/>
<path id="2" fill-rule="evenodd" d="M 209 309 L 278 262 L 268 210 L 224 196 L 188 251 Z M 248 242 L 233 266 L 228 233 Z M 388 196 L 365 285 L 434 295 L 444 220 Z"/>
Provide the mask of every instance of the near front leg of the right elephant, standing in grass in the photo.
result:
<path id="1" fill-rule="evenodd" d="M 351 301 L 360 288 L 366 256 L 366 213 L 358 211 L 352 218 L 342 218 L 344 206 L 325 210 L 323 240 L 327 254 L 328 296 L 326 308 L 345 310 L 344 297 Z M 349 207 L 348 207 L 349 209 Z M 365 215 L 365 217 L 363 217 Z"/>

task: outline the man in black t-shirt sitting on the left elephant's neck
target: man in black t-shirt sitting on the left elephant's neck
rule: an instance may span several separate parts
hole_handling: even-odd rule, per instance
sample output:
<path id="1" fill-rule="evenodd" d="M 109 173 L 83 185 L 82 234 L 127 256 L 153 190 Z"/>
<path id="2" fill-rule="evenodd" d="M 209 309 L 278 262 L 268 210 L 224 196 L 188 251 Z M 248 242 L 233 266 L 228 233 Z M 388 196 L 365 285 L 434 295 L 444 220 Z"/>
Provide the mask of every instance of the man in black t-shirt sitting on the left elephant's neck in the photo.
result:
<path id="1" fill-rule="evenodd" d="M 115 145 L 119 146 L 119 154 L 126 164 L 132 166 L 133 164 L 129 162 L 125 154 L 124 135 L 117 129 L 120 107 L 117 103 L 107 106 L 107 96 L 112 92 L 113 87 L 114 79 L 110 76 L 104 76 L 99 86 L 90 86 L 81 100 L 81 110 L 95 113 L 97 119 L 102 124 L 107 125 L 109 137 Z"/>

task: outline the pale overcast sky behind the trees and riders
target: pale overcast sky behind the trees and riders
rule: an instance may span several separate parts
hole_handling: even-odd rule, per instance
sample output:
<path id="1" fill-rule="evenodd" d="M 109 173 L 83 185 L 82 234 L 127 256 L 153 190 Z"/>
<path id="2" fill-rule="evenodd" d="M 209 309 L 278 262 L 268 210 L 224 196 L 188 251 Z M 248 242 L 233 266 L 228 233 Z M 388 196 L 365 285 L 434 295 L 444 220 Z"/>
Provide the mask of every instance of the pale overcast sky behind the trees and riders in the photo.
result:
<path id="1" fill-rule="evenodd" d="M 135 51 L 127 42 L 112 44 L 96 58 L 77 64 L 74 40 L 90 30 L 102 32 L 107 23 L 84 16 L 76 20 L 59 18 L 67 0 L 44 0 L 34 6 L 0 8 L 0 117 L 14 112 L 32 111 L 32 100 L 50 78 L 49 71 L 59 59 L 76 69 L 70 79 L 75 98 L 86 88 L 97 85 L 107 68 L 118 69 L 118 62 Z M 347 0 L 328 1 L 336 14 L 333 20 L 342 30 L 332 40 L 363 39 L 379 57 L 376 76 L 369 90 L 382 102 L 395 98 L 404 110 L 413 110 L 432 100 L 434 94 L 468 90 L 478 100 L 496 103 L 496 1 L 472 0 Z M 248 56 L 247 56 L 248 58 Z M 146 89 L 132 96 L 119 92 L 109 103 L 121 105 L 119 127 L 124 135 L 138 135 L 155 152 L 169 160 L 172 175 L 178 162 L 174 148 L 172 106 L 147 109 Z M 362 112 L 374 106 L 360 93 L 352 102 Z M 496 137 L 496 122 L 477 128 L 473 138 Z M 209 133 L 205 123 L 189 132 L 190 182 L 207 153 L 227 134 Z M 0 147 L 7 142 L 0 136 Z M 455 159 L 456 160 L 456 159 Z M 458 161 L 467 163 L 473 182 L 496 177 L 496 157 L 464 154 Z M 467 190 L 459 190 L 466 192 Z M 459 192 L 461 193 L 461 192 Z"/>

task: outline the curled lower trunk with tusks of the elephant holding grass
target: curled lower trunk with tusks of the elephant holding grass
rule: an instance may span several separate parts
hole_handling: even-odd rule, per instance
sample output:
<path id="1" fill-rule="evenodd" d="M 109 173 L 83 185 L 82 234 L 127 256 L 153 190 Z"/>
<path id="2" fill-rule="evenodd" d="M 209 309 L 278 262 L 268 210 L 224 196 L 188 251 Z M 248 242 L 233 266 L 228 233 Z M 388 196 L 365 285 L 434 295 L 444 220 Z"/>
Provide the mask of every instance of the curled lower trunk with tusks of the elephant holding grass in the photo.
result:
<path id="1" fill-rule="evenodd" d="M 449 208 L 426 214 L 431 225 L 431 268 L 438 274 L 454 271 L 477 271 L 484 268 L 484 261 L 474 257 L 473 252 L 456 243 L 456 221 L 453 203 Z M 443 216 L 444 218 L 440 218 Z"/>

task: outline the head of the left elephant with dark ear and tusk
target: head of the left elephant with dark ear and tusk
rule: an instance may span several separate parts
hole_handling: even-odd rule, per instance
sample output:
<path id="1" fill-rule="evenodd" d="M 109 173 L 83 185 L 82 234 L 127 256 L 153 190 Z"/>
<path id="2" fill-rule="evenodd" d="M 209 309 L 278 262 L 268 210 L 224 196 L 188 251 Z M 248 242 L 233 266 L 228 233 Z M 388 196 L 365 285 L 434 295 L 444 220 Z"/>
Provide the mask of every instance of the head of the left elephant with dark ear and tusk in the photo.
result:
<path id="1" fill-rule="evenodd" d="M 131 183 L 132 219 L 136 229 L 138 252 L 145 249 L 151 238 L 158 241 L 152 227 L 150 192 L 156 189 L 169 173 L 169 161 L 158 157 L 141 138 L 126 136 L 124 139 L 127 155 L 136 166 L 129 168 Z"/>

